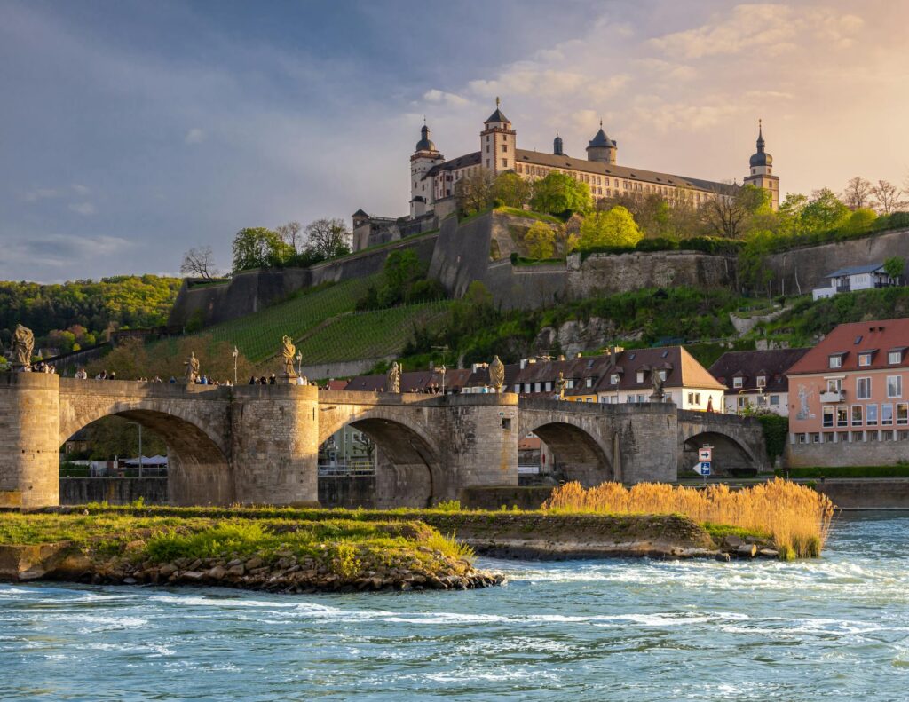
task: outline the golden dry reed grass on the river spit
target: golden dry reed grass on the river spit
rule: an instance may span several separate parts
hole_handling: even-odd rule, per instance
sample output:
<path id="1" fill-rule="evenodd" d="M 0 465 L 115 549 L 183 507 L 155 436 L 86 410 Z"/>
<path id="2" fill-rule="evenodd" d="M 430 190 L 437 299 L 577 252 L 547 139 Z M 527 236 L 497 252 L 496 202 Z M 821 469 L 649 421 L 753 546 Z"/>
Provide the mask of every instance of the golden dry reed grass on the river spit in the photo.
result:
<path id="1" fill-rule="evenodd" d="M 739 526 L 771 535 L 780 557 L 820 556 L 830 532 L 834 503 L 810 487 L 775 478 L 730 490 L 727 485 L 705 488 L 620 483 L 585 489 L 580 483 L 556 487 L 543 509 L 554 512 L 607 514 L 681 514 L 699 524 Z"/>

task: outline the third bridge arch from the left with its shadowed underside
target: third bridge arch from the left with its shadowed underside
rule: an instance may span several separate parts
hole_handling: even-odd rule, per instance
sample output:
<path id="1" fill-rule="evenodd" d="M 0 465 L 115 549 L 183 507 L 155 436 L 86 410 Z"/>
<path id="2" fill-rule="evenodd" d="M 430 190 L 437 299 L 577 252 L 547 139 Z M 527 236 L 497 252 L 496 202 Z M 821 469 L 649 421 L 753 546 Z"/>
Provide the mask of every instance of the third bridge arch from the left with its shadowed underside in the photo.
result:
<path id="1" fill-rule="evenodd" d="M 521 436 L 533 433 L 549 446 L 560 479 L 576 480 L 585 487 L 616 479 L 611 447 L 567 417 L 526 422 L 521 431 Z"/>

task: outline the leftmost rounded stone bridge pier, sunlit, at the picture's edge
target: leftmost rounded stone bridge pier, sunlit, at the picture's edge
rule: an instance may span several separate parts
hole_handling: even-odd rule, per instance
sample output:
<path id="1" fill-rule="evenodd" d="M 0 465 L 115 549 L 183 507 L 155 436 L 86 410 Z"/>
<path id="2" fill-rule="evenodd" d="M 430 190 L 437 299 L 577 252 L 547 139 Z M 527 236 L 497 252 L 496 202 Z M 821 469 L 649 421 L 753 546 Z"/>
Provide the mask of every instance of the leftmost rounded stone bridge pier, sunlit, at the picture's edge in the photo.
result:
<path id="1" fill-rule="evenodd" d="M 60 504 L 60 377 L 0 374 L 0 506 Z"/>

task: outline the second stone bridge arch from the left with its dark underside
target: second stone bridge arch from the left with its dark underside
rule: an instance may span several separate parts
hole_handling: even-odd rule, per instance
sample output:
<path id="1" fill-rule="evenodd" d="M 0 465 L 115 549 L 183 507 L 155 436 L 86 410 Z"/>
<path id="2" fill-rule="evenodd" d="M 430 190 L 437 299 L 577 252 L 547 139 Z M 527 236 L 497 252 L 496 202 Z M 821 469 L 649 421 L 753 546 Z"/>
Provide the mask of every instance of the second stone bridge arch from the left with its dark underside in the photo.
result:
<path id="1" fill-rule="evenodd" d="M 376 447 L 374 506 L 433 506 L 453 496 L 454 489 L 435 448 L 439 439 L 400 410 L 400 406 L 348 406 L 342 415 L 329 409 L 334 416 L 321 417 L 319 446 L 345 426 L 363 432 Z"/>

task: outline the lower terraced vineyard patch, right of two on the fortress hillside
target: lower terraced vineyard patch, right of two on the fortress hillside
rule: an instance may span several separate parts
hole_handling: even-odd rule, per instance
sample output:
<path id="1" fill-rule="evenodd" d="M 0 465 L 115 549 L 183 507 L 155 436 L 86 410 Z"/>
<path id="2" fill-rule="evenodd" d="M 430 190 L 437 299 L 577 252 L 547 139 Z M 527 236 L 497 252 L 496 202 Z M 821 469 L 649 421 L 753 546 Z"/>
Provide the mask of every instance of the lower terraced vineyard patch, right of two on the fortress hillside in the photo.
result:
<path id="1" fill-rule="evenodd" d="M 340 316 L 306 336 L 297 349 L 304 365 L 392 356 L 413 336 L 415 325 L 430 324 L 450 305 L 448 301 L 427 302 Z"/>

